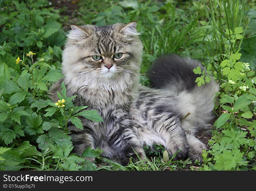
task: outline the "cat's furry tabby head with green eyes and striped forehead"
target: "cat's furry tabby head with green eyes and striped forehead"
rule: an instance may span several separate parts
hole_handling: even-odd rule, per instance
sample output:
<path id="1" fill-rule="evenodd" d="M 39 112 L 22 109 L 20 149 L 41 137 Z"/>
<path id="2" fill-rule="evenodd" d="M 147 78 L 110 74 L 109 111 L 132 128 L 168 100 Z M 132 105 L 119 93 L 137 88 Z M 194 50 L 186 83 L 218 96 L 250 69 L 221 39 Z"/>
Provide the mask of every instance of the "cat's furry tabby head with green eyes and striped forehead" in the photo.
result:
<path id="1" fill-rule="evenodd" d="M 143 45 L 135 27 L 71 25 L 63 51 L 65 83 L 120 90 L 138 83 Z"/>

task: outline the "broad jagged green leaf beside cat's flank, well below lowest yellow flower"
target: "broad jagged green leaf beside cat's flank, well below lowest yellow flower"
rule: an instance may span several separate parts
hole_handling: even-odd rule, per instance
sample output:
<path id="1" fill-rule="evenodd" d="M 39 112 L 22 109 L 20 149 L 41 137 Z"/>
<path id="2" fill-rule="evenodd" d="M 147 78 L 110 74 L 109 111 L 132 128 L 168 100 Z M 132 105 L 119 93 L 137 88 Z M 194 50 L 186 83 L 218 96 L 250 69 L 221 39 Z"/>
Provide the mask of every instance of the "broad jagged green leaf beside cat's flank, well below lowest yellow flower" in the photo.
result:
<path id="1" fill-rule="evenodd" d="M 39 143 L 38 147 L 42 150 L 46 148 L 50 148 L 51 144 L 58 145 L 58 144 L 72 144 L 70 141 L 71 137 L 65 133 L 65 131 L 58 129 L 57 127 L 52 127 L 49 129 L 48 135 L 40 135 L 36 142 Z"/>

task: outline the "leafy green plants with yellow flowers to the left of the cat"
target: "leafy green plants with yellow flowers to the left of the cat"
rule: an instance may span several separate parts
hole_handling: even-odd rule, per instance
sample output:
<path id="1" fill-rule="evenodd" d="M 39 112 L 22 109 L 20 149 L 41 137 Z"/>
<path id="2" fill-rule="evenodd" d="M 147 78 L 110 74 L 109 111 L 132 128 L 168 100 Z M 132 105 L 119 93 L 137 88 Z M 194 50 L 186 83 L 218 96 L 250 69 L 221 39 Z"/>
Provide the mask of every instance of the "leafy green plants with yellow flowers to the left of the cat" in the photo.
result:
<path id="1" fill-rule="evenodd" d="M 51 82 L 63 77 L 60 70 L 47 63 L 44 56 L 35 62 L 35 53 L 26 56 L 16 61 L 22 66 L 20 75 L 6 75 L 0 83 L 0 169 L 95 170 L 96 165 L 83 157 L 99 158 L 101 151 L 91 149 L 93 154 L 85 152 L 82 158 L 72 154 L 67 122 L 71 120 L 83 129 L 78 117 L 96 122 L 102 122 L 102 118 L 97 111 L 85 110 L 88 106 L 74 106 L 76 96 L 66 96 L 64 83 L 61 93 L 57 93 L 60 100 L 50 101 L 46 93 Z"/>

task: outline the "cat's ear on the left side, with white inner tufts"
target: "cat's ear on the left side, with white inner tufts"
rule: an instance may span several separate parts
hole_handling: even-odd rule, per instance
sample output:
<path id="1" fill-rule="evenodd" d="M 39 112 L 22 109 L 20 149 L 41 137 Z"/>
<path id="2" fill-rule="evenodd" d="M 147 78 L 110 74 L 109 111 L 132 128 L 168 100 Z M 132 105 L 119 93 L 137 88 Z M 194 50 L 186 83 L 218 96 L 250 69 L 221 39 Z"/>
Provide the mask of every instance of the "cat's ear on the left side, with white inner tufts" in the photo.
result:
<path id="1" fill-rule="evenodd" d="M 70 26 L 72 31 L 68 33 L 68 38 L 71 38 L 73 40 L 81 40 L 84 38 L 88 38 L 90 34 L 90 29 L 88 25 L 85 26 L 77 26 L 77 25 L 71 25 Z"/>

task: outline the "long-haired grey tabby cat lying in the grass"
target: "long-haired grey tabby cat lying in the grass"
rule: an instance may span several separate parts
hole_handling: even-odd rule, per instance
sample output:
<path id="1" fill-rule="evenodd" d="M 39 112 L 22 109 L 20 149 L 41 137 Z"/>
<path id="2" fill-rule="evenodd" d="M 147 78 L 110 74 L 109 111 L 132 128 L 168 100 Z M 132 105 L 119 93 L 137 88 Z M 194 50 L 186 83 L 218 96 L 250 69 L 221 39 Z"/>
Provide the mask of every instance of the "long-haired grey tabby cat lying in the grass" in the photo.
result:
<path id="1" fill-rule="evenodd" d="M 65 77 L 52 86 L 51 99 L 58 99 L 64 81 L 67 95 L 79 94 L 104 120 L 81 118 L 83 130 L 70 124 L 74 152 L 99 147 L 103 156 L 125 164 L 135 152 L 145 158 L 143 146 L 155 143 L 171 156 L 177 153 L 175 159 L 200 160 L 207 146 L 194 134 L 213 117 L 218 85 L 211 80 L 198 87 L 192 70 L 203 66 L 177 55 L 154 63 L 149 74 L 155 88 L 139 84 L 143 44 L 135 27 L 136 22 L 71 25 L 63 51 Z"/>

